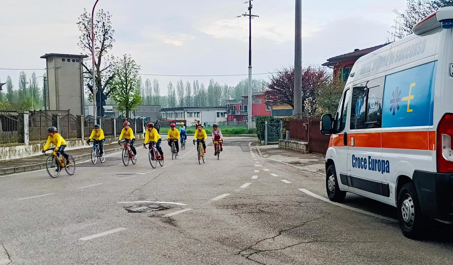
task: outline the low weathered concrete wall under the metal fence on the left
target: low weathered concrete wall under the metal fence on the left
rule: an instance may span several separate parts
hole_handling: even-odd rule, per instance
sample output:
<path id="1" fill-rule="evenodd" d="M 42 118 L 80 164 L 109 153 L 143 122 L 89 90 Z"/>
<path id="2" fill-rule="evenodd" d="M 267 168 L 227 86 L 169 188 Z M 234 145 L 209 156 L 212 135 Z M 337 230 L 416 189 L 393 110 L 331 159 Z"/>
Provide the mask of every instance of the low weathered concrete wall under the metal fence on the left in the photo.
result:
<path id="1" fill-rule="evenodd" d="M 135 134 L 135 139 L 142 140 L 143 133 Z M 108 136 L 106 137 L 105 143 L 111 143 L 118 141 L 118 137 Z M 21 157 L 28 157 L 28 156 L 38 156 L 41 155 L 41 151 L 43 150 L 45 142 L 30 142 L 29 145 L 11 145 L 11 146 L 4 146 L 0 148 L 0 161 L 1 160 L 9 160 Z M 137 144 L 137 143 L 136 143 Z M 70 151 L 74 149 L 92 147 L 91 145 L 87 145 L 86 139 L 77 139 L 77 140 L 68 140 L 66 141 L 66 149 L 65 151 Z M 70 152 L 68 152 L 70 153 Z"/>

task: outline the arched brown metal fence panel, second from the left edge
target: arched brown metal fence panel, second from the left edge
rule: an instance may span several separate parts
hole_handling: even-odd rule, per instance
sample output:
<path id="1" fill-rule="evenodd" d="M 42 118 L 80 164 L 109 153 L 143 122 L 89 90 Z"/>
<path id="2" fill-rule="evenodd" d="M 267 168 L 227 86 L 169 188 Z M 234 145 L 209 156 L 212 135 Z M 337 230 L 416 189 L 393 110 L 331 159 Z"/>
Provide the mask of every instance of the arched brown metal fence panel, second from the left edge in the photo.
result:
<path id="1" fill-rule="evenodd" d="M 35 111 L 29 116 L 29 140 L 43 141 L 48 138 L 47 128 L 56 126 L 57 121 L 43 111 Z"/>

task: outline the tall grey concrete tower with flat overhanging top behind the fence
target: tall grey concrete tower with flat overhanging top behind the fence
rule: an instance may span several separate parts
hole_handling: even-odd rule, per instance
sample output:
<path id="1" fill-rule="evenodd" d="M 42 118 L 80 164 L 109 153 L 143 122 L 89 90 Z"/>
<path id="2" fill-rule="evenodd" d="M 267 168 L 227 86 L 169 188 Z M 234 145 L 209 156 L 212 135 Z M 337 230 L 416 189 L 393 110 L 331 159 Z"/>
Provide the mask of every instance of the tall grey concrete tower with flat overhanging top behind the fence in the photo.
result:
<path id="1" fill-rule="evenodd" d="M 82 60 L 86 55 L 46 53 L 47 91 L 46 109 L 71 110 L 83 115 L 84 91 Z"/>

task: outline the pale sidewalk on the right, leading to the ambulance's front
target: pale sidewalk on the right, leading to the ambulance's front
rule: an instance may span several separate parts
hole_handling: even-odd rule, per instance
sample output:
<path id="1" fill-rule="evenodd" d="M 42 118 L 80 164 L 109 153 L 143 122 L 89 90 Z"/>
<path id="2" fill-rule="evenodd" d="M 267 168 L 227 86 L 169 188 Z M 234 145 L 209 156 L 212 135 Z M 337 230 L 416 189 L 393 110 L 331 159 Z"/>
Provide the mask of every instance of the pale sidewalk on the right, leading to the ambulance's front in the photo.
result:
<path id="1" fill-rule="evenodd" d="M 278 145 L 256 146 L 260 156 L 300 170 L 325 175 L 325 161 L 322 156 L 302 154 L 279 148 Z"/>

